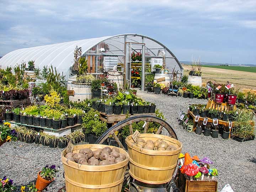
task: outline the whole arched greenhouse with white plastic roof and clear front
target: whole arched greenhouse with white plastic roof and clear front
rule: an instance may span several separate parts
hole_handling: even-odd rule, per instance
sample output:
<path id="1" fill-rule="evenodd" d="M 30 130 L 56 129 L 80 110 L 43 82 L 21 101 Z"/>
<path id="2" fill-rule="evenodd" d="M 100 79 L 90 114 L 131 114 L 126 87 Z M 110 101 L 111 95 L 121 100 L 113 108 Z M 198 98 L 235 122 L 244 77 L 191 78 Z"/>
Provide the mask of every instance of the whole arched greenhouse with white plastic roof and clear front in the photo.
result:
<path id="1" fill-rule="evenodd" d="M 144 90 L 146 82 L 151 81 L 152 77 L 154 79 L 151 73 L 155 73 L 155 65 L 161 66 L 157 78 L 165 77 L 166 84 L 169 84 L 171 79 L 180 80 L 182 76 L 180 62 L 166 46 L 139 34 L 120 34 L 18 49 L 4 55 L 0 59 L 0 65 L 5 69 L 7 66 L 33 60 L 35 68 L 42 70 L 43 66 L 52 65 L 59 73 L 63 72 L 68 79 L 76 75 L 74 65 L 76 46 L 81 47 L 80 54 L 87 59 L 88 73 L 93 75 L 109 73 L 110 79 L 124 81 L 129 87 L 139 87 Z"/>

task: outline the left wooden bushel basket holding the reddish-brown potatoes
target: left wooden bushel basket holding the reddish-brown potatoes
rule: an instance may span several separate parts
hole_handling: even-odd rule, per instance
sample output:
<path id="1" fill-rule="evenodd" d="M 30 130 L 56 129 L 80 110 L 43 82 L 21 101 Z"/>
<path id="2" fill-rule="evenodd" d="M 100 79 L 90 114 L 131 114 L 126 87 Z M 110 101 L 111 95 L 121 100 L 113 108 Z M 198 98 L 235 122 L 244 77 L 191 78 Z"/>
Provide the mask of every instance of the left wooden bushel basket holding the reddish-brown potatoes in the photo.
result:
<path id="1" fill-rule="evenodd" d="M 73 153 L 79 153 L 82 148 L 91 150 L 102 149 L 107 145 L 85 144 L 75 145 Z M 114 146 L 109 146 L 113 148 Z M 62 151 L 62 162 L 65 171 L 66 192 L 121 192 L 124 181 L 124 173 L 129 160 L 128 153 L 119 148 L 120 153 L 127 158 L 112 165 L 78 165 L 76 162 L 65 158 L 66 151 Z"/>

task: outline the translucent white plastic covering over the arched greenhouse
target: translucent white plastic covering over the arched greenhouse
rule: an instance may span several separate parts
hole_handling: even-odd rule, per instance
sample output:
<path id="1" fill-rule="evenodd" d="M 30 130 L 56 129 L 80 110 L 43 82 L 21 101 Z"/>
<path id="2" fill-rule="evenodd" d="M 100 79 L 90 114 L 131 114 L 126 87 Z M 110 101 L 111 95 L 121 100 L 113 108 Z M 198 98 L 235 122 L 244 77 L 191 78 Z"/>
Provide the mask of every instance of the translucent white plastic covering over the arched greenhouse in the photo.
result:
<path id="1" fill-rule="evenodd" d="M 100 38 L 83 39 L 79 41 L 64 42 L 58 44 L 51 44 L 46 46 L 31 47 L 24 49 L 17 49 L 12 51 L 0 59 L 0 65 L 2 68 L 6 66 L 15 66 L 22 63 L 22 61 L 28 63 L 30 60 L 35 60 L 35 67 L 42 69 L 43 66 L 56 67 L 59 73 L 69 76 L 69 68 L 73 65 L 74 49 L 76 46 L 82 48 L 82 55 L 88 57 L 88 55 L 95 55 L 95 60 L 100 56 L 116 56 L 119 63 L 124 63 L 124 47 L 125 42 L 145 43 L 146 57 L 158 57 L 159 50 L 163 50 L 166 53 L 166 59 L 169 59 L 169 69 L 182 71 L 182 66 L 178 62 L 177 58 L 171 51 L 158 41 L 139 34 L 120 34 L 116 36 L 107 36 Z M 105 48 L 105 52 L 102 53 L 100 48 Z M 97 64 L 95 64 L 97 65 Z M 96 73 L 100 73 L 97 70 Z"/>

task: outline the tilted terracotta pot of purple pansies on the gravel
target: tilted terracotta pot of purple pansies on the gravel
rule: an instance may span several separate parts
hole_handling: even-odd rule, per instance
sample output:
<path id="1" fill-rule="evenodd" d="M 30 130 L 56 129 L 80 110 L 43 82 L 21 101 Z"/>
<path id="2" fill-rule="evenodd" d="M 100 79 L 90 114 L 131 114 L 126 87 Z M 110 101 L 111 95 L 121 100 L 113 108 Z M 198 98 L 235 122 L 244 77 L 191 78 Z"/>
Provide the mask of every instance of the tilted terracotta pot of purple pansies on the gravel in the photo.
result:
<path id="1" fill-rule="evenodd" d="M 43 191 L 51 182 L 53 182 L 54 177 L 58 170 L 55 165 L 46 165 L 43 167 L 42 171 L 37 174 L 36 188 L 39 191 Z"/>

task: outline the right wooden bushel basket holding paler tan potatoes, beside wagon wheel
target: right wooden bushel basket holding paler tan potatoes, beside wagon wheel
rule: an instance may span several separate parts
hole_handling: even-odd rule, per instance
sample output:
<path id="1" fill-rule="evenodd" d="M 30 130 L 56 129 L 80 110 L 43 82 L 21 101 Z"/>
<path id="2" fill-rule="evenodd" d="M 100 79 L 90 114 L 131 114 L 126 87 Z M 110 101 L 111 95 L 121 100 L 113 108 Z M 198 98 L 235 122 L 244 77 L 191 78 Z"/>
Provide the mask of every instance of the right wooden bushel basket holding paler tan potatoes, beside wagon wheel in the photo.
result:
<path id="1" fill-rule="evenodd" d="M 176 146 L 173 151 L 155 151 L 142 149 L 133 144 L 132 135 L 126 138 L 128 146 L 130 175 L 138 181 L 151 184 L 169 182 L 176 169 L 178 157 L 182 149 L 182 143 L 166 135 L 140 134 L 139 138 L 146 140 L 163 139 L 169 145 Z"/>

